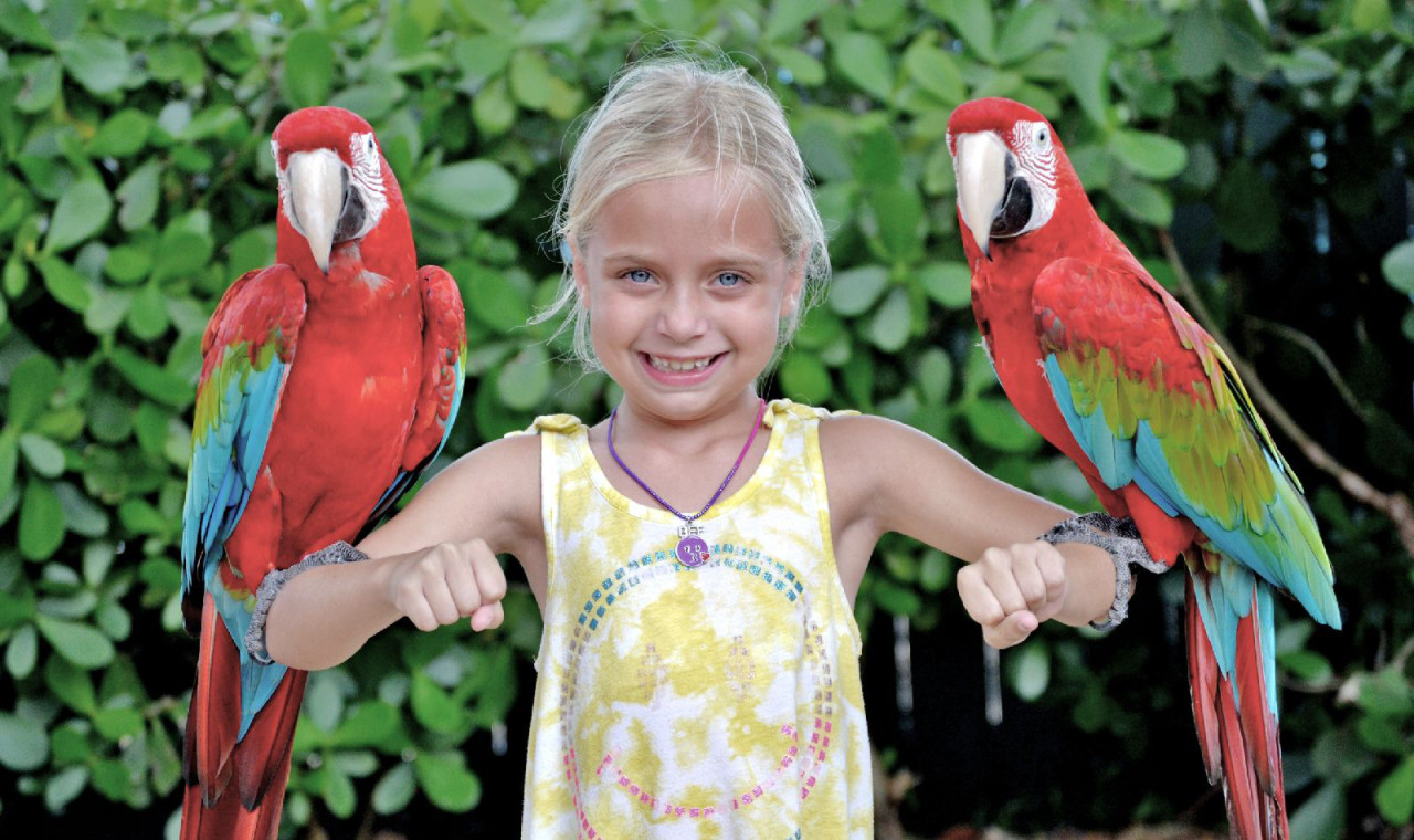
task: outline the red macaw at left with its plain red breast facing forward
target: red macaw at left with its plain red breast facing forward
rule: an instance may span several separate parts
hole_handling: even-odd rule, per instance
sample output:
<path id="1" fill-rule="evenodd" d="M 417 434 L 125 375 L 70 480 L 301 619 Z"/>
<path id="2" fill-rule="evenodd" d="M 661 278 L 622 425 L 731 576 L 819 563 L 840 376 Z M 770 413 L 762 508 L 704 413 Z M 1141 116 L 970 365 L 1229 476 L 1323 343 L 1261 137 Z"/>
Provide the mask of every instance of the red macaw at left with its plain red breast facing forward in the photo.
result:
<path id="1" fill-rule="evenodd" d="M 461 296 L 417 269 L 369 124 L 307 107 L 271 148 L 276 264 L 226 290 L 202 341 L 182 511 L 182 611 L 201 628 L 184 840 L 276 837 L 305 672 L 247 653 L 255 593 L 369 530 L 441 451 L 462 395 Z"/>

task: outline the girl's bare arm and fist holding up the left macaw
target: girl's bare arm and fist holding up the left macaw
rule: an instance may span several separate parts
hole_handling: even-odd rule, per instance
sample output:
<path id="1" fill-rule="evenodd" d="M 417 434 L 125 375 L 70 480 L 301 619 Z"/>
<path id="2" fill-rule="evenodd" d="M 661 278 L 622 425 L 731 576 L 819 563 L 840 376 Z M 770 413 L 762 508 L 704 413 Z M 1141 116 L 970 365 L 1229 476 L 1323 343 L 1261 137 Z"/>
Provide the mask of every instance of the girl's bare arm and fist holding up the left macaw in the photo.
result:
<path id="1" fill-rule="evenodd" d="M 520 560 L 539 598 L 539 465 L 537 436 L 492 441 L 428 481 L 359 543 L 368 560 L 290 578 L 266 619 L 270 656 L 304 670 L 331 667 L 403 617 L 424 631 L 467 617 L 475 631 L 496 626 L 506 591 L 501 553 Z"/>

